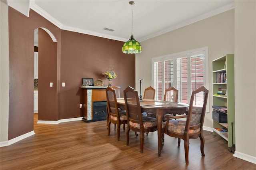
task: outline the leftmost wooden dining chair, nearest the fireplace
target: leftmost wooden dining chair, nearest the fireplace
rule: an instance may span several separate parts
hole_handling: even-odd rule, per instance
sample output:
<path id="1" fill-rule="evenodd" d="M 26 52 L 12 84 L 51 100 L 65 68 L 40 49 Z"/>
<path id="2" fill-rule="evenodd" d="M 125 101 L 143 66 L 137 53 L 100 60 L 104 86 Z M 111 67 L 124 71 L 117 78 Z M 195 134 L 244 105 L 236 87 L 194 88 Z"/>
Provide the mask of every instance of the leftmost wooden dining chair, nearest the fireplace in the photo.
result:
<path id="1" fill-rule="evenodd" d="M 110 135 L 110 124 L 117 125 L 117 140 L 120 138 L 120 126 L 123 124 L 125 130 L 125 124 L 127 124 L 126 111 L 118 109 L 116 101 L 116 92 L 112 87 L 106 88 L 106 98 L 108 107 L 108 135 Z"/>

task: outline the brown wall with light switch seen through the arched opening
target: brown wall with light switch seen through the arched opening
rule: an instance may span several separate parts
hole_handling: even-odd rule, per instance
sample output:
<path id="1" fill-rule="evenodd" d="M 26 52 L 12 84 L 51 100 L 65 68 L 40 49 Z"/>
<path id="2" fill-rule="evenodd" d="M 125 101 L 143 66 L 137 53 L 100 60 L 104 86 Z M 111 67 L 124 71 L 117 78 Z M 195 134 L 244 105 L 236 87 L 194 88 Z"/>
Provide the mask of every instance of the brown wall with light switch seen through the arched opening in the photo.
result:
<path id="1" fill-rule="evenodd" d="M 57 42 L 41 28 L 38 37 L 38 120 L 58 121 Z"/>

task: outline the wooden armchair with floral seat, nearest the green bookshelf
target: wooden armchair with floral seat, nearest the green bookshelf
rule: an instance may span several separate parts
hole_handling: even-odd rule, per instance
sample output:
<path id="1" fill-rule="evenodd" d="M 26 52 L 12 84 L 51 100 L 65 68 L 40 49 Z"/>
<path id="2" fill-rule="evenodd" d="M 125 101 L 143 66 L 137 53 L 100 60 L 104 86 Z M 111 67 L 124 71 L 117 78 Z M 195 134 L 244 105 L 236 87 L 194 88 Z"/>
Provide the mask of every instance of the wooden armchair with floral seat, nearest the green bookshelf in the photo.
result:
<path id="1" fill-rule="evenodd" d="M 167 114 L 165 115 L 167 121 L 162 124 L 162 128 L 164 128 L 165 134 L 178 138 L 178 146 L 180 146 L 180 139 L 184 140 L 186 164 L 188 164 L 189 139 L 191 138 L 200 138 L 201 154 L 202 156 L 205 155 L 203 124 L 207 98 L 208 90 L 204 86 L 201 86 L 198 89 L 192 91 L 188 108 L 188 115 L 175 117 L 173 115 Z M 186 121 L 180 120 L 180 118 L 186 118 Z"/>

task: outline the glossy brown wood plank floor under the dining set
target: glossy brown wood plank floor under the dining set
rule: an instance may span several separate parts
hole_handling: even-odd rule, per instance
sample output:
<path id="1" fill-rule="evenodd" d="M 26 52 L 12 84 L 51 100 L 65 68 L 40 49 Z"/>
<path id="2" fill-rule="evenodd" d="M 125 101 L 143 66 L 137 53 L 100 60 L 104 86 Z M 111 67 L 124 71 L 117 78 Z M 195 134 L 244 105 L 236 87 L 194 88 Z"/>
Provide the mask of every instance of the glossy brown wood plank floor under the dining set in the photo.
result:
<path id="1" fill-rule="evenodd" d="M 37 114 L 35 122 L 37 121 Z M 114 126 L 107 135 L 106 121 L 73 121 L 58 125 L 34 124 L 35 135 L 0 148 L 1 170 L 255 170 L 256 165 L 232 156 L 227 142 L 204 131 L 205 156 L 200 140 L 190 140 L 189 164 L 185 163 L 184 143 L 165 135 L 158 157 L 157 132 L 145 136 L 144 153 L 140 138 L 130 132 L 126 146 L 125 132 L 120 141 Z"/>

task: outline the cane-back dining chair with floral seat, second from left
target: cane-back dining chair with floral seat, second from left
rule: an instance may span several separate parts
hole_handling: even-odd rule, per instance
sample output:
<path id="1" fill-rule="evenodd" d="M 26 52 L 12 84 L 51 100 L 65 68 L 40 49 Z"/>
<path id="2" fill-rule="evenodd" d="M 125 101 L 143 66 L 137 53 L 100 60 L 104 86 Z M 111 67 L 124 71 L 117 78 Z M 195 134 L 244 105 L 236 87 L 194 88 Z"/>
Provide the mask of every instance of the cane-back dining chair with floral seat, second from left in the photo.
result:
<path id="1" fill-rule="evenodd" d="M 128 86 L 124 90 L 124 101 L 127 116 L 126 145 L 129 144 L 129 132 L 140 132 L 140 153 L 143 153 L 144 133 L 157 130 L 156 119 L 142 116 L 138 92 Z"/>

